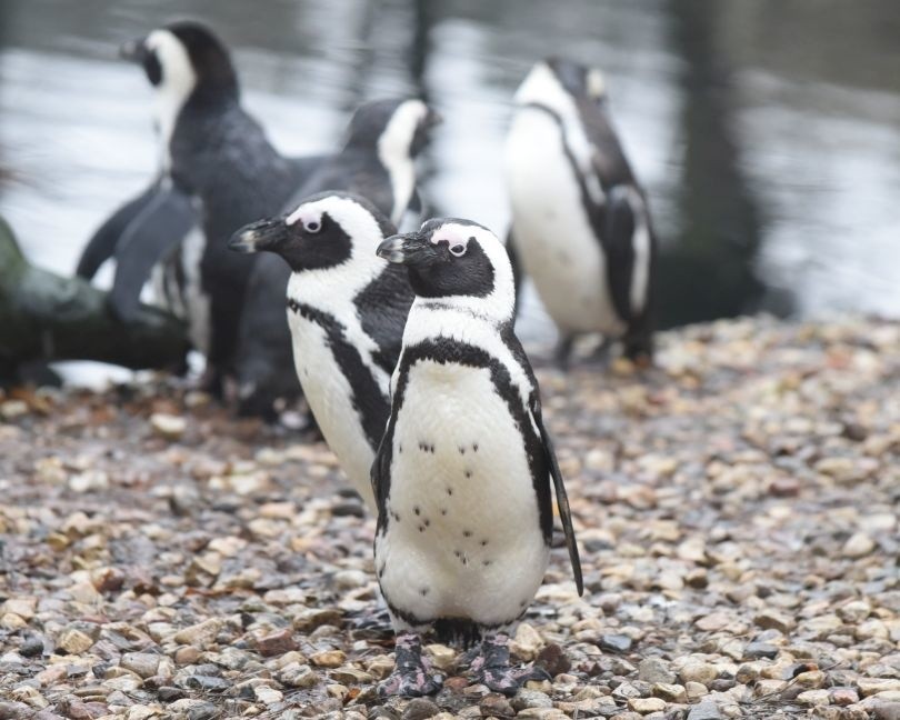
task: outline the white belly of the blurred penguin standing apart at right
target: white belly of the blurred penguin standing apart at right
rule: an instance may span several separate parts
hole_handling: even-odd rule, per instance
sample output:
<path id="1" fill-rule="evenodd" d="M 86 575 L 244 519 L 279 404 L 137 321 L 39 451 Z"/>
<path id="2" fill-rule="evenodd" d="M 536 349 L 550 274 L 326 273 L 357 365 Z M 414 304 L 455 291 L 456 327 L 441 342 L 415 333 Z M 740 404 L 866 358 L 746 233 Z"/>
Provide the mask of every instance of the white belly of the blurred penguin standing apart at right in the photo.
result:
<path id="1" fill-rule="evenodd" d="M 550 317 L 563 332 L 618 336 L 606 258 L 588 221 L 559 126 L 534 109 L 517 112 L 506 147 L 517 249 Z"/>

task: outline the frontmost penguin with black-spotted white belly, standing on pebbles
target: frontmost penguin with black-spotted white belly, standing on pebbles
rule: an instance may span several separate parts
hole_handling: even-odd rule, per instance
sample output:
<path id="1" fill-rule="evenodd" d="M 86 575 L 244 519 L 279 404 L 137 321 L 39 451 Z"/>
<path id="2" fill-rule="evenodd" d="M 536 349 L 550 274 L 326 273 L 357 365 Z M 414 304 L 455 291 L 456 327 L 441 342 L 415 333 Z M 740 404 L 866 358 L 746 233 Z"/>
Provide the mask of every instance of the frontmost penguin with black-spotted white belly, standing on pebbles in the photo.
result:
<path id="1" fill-rule="evenodd" d="M 529 671 L 509 667 L 508 633 L 549 561 L 551 481 L 579 593 L 582 583 L 538 383 L 512 329 L 512 268 L 497 237 L 468 220 L 429 220 L 378 254 L 406 266 L 416 292 L 372 464 L 376 572 L 397 632 L 380 691 L 438 689 L 421 657 L 433 630 L 480 639 L 477 681 L 514 692 Z"/>

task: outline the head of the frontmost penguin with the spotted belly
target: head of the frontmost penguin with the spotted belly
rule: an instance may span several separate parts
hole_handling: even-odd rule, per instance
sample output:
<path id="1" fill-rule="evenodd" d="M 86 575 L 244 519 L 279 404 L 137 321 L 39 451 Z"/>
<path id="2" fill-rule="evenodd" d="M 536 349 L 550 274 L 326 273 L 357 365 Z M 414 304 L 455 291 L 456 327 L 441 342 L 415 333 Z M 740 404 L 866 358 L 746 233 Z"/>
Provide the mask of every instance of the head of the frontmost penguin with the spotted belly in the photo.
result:
<path id="1" fill-rule="evenodd" d="M 419 232 L 384 240 L 378 254 L 407 266 L 410 284 L 422 298 L 488 298 L 511 292 L 512 270 L 503 246 L 471 220 L 429 220 Z"/>

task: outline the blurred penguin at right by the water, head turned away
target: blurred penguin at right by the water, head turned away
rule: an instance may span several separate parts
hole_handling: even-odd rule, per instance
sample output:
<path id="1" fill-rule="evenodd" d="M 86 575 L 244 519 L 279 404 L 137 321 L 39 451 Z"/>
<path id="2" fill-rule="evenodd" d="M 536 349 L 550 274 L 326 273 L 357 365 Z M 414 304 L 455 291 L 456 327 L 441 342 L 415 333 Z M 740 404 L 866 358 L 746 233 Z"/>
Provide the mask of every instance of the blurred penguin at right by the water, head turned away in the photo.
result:
<path id="1" fill-rule="evenodd" d="M 602 76 L 549 59 L 514 102 L 504 162 L 510 241 L 559 327 L 558 357 L 568 358 L 576 336 L 601 332 L 649 361 L 657 240 L 610 124 Z"/>

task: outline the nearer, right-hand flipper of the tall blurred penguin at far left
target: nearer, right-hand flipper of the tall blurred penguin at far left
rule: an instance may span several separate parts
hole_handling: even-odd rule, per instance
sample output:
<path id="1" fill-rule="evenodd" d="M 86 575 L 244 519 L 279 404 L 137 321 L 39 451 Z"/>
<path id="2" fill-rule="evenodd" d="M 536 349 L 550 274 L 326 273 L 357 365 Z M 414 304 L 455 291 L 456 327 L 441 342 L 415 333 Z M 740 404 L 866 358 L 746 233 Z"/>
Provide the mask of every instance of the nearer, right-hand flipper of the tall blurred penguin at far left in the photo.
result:
<path id="1" fill-rule="evenodd" d="M 177 247 L 197 222 L 190 198 L 169 187 L 159 191 L 129 223 L 116 248 L 116 278 L 109 293 L 112 312 L 131 320 L 153 266 Z"/>

